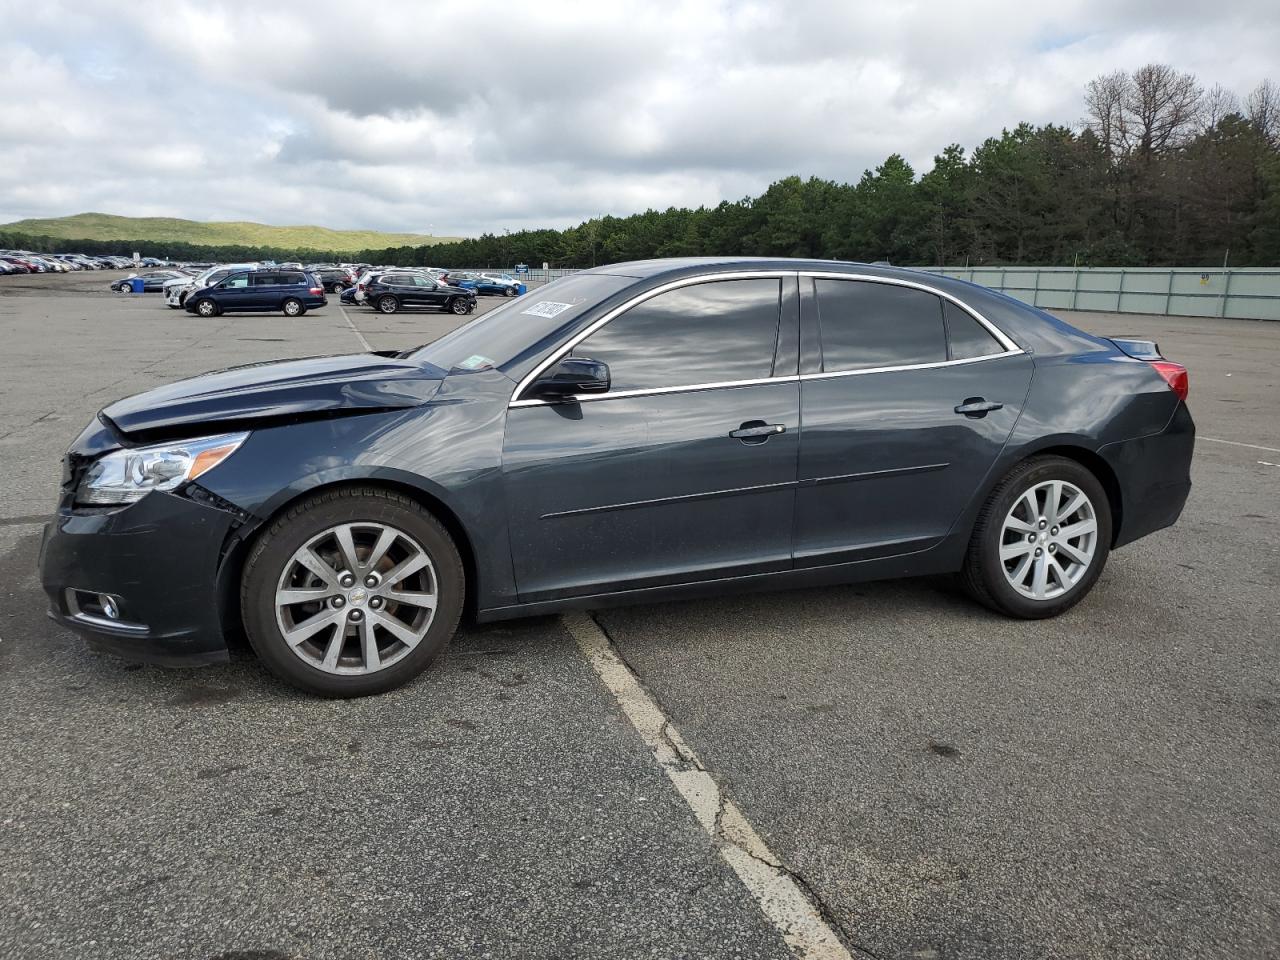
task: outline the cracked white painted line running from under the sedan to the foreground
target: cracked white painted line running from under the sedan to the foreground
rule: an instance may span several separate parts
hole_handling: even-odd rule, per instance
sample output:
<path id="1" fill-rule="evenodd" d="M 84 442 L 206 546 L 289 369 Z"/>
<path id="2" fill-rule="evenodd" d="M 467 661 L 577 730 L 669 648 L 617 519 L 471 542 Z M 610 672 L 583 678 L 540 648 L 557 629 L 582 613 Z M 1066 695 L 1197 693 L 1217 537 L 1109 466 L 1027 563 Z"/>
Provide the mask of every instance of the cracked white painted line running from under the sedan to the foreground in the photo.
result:
<path id="1" fill-rule="evenodd" d="M 653 750 L 658 765 L 714 841 L 724 863 L 733 868 L 792 952 L 804 960 L 852 960 L 814 902 L 640 686 L 604 631 L 585 613 L 567 613 L 563 622 L 622 713 Z"/>

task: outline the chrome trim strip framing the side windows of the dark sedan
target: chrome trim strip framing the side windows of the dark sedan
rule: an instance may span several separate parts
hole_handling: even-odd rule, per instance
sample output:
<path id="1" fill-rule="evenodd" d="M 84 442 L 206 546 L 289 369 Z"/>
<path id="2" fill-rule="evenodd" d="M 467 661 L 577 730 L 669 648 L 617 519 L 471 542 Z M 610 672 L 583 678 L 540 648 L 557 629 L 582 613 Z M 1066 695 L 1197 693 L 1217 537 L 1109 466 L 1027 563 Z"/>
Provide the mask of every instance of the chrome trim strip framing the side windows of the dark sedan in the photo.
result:
<path id="1" fill-rule="evenodd" d="M 680 387 L 653 387 L 643 390 L 613 390 L 609 393 L 571 394 L 568 397 L 562 397 L 554 401 L 544 401 L 535 398 L 516 399 L 516 397 L 520 397 L 520 394 L 522 394 L 526 389 L 529 389 L 529 387 L 544 371 L 547 371 L 548 367 L 550 367 L 553 364 L 559 362 L 559 360 L 566 353 L 572 351 L 573 347 L 585 340 L 588 337 L 590 337 L 593 333 L 599 330 L 602 326 L 604 326 L 614 317 L 625 314 L 631 307 L 637 306 L 652 297 L 657 297 L 660 293 L 667 293 L 668 291 L 678 289 L 681 287 L 691 287 L 694 284 L 708 283 L 708 282 L 714 283 L 716 280 L 746 280 L 746 279 L 785 280 L 788 276 L 791 278 L 808 276 L 813 279 L 824 279 L 824 280 L 864 280 L 869 283 L 887 283 L 895 287 L 909 287 L 913 289 L 924 291 L 925 293 L 932 293 L 937 297 L 942 297 L 943 300 L 951 301 L 957 307 L 969 314 L 969 316 L 977 320 L 992 337 L 996 338 L 996 342 L 1000 343 L 1000 346 L 1002 346 L 1005 351 L 1002 353 L 988 353 L 987 356 L 983 357 L 963 357 L 960 360 L 936 360 L 927 364 L 901 364 L 897 366 L 858 367 L 854 370 L 823 370 L 815 374 L 763 376 L 763 378 L 754 378 L 750 380 L 723 380 L 719 383 L 684 384 Z M 1004 330 L 1001 330 L 991 320 L 984 317 L 980 312 L 970 307 L 964 301 L 947 293 L 946 291 L 940 291 L 936 287 L 931 287 L 927 283 L 919 283 L 916 280 L 905 280 L 897 276 L 876 276 L 873 274 L 850 274 L 850 273 L 835 273 L 824 270 L 735 270 L 732 273 L 721 273 L 721 274 L 698 274 L 696 276 L 682 276 L 678 280 L 671 280 L 669 283 L 664 283 L 658 287 L 654 287 L 650 291 L 645 291 L 640 296 L 634 297 L 632 300 L 628 300 L 627 302 L 614 307 L 604 316 L 602 316 L 599 320 L 591 323 L 586 329 L 571 337 L 566 343 L 552 351 L 545 360 L 543 360 L 538 366 L 535 366 L 529 374 L 525 375 L 525 378 L 520 381 L 520 385 L 516 387 L 515 392 L 511 394 L 512 399 L 508 401 L 507 408 L 511 410 L 515 407 L 548 407 L 556 403 L 590 403 L 595 401 L 621 399 L 625 397 L 653 397 L 667 393 L 694 393 L 700 390 L 726 389 L 731 387 L 755 387 L 767 383 L 796 383 L 803 380 L 826 380 L 828 378 L 836 378 L 836 376 L 891 374 L 904 370 L 932 370 L 934 367 L 961 366 L 965 364 L 980 364 L 987 360 L 1001 360 L 1004 357 L 1014 357 L 1025 352 L 1027 351 L 1019 347 L 1010 337 L 1005 334 Z"/>

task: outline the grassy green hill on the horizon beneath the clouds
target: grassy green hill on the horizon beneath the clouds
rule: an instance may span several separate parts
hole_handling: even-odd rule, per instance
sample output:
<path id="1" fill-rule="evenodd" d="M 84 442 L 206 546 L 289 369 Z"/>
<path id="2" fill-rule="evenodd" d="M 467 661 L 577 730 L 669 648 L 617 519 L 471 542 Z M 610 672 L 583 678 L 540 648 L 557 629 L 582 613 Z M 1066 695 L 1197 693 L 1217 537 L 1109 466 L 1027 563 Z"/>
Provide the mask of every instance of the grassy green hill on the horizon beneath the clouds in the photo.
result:
<path id="1" fill-rule="evenodd" d="M 383 247 L 445 243 L 456 237 L 422 233 L 381 233 L 379 230 L 330 230 L 326 227 L 270 227 L 250 221 L 178 220 L 168 216 L 114 216 L 76 214 L 44 220 L 17 220 L 0 224 L 36 237 L 92 241 L 152 241 L 156 243 L 197 243 L 206 247 L 246 246 L 311 248 L 333 251 L 378 250 Z"/>

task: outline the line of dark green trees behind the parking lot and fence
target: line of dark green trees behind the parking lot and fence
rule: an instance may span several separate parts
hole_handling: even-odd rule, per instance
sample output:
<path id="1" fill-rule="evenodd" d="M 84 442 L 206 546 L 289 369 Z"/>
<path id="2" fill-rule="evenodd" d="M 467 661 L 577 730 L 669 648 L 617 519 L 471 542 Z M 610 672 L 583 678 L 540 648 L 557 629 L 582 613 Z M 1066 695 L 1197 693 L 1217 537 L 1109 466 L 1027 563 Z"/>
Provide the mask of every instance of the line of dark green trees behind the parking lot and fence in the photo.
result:
<path id="1" fill-rule="evenodd" d="M 160 246 L 173 257 L 189 247 L 219 259 L 498 268 L 733 255 L 940 266 L 1280 262 L 1280 86 L 1263 81 L 1242 100 L 1148 64 L 1091 81 L 1084 109 L 1079 123 L 1021 123 L 969 152 L 952 143 L 919 177 L 893 154 L 856 183 L 787 177 L 758 197 L 600 216 L 563 230 L 355 253 Z M 84 252 L 156 248 L 56 243 Z M 6 244 L 24 246 L 0 233 Z"/>

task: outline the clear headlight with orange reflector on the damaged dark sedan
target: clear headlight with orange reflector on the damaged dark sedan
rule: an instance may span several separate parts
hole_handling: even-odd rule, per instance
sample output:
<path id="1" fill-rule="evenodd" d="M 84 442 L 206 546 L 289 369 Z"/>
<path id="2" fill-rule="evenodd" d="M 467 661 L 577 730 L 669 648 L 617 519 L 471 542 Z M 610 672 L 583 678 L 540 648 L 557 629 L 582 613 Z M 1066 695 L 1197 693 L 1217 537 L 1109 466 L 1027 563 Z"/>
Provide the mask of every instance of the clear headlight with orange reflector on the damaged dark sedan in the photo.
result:
<path id="1" fill-rule="evenodd" d="M 76 490 L 76 502 L 116 506 L 141 500 L 152 490 L 173 490 L 216 467 L 246 439 L 247 433 L 220 434 L 114 451 L 93 461 Z"/>

